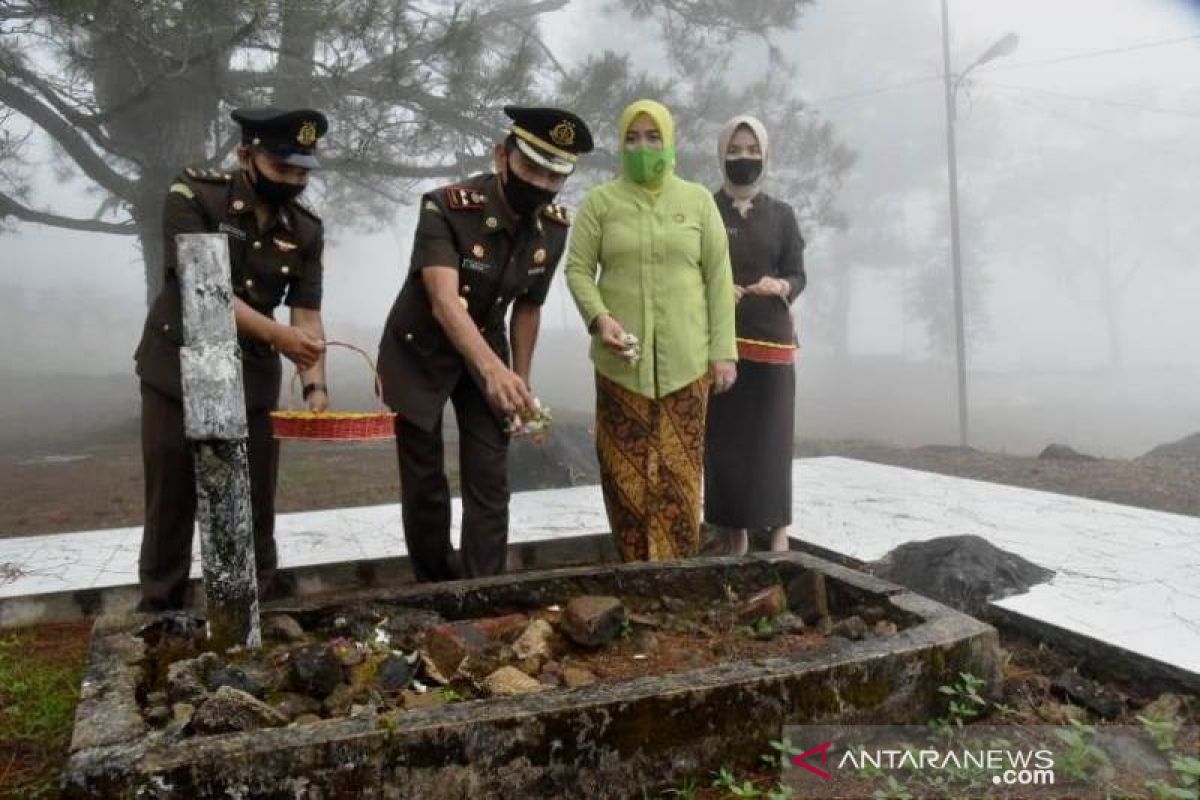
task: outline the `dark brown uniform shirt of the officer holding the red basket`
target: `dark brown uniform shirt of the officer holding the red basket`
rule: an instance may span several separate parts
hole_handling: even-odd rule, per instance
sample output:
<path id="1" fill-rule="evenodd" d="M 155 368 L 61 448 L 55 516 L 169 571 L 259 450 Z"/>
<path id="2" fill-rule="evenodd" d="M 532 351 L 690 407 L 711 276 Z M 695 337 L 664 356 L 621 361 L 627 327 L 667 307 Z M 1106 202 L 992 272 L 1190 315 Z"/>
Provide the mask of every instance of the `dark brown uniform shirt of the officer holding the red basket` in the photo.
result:
<path id="1" fill-rule="evenodd" d="M 245 174 L 187 169 L 170 186 L 163 206 L 163 289 L 150 307 L 134 360 L 143 381 L 181 398 L 179 348 L 184 343 L 175 234 L 223 233 L 229 239 L 234 294 L 271 317 L 286 302 L 320 308 L 320 219 L 298 203 L 288 203 L 265 229 L 254 217 L 254 194 Z M 239 338 L 246 408 L 274 408 L 282 366 L 269 344 Z"/>

